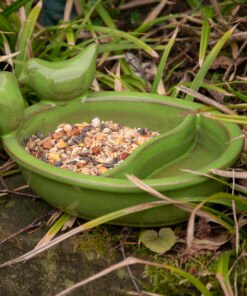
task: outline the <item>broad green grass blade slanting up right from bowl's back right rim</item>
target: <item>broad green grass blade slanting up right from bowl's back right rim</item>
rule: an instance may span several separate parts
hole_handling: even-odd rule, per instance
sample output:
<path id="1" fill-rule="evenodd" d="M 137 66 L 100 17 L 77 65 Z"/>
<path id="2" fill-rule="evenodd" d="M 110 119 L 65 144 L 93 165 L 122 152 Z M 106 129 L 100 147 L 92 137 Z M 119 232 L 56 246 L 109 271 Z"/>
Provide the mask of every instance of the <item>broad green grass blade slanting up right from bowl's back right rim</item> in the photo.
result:
<path id="1" fill-rule="evenodd" d="M 233 27 L 231 30 L 227 31 L 220 40 L 216 43 L 216 45 L 213 47 L 213 49 L 210 51 L 209 55 L 207 56 L 205 62 L 203 63 L 202 67 L 196 74 L 193 82 L 191 83 L 191 89 L 197 91 L 202 83 L 203 79 L 206 76 L 208 70 L 210 69 L 211 65 L 213 64 L 214 60 L 218 56 L 219 52 L 227 42 L 227 40 L 231 37 L 232 32 L 234 31 L 235 27 Z M 186 95 L 185 100 L 187 101 L 193 101 L 193 96 Z"/>

